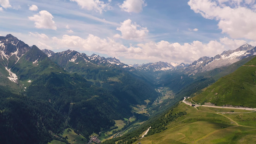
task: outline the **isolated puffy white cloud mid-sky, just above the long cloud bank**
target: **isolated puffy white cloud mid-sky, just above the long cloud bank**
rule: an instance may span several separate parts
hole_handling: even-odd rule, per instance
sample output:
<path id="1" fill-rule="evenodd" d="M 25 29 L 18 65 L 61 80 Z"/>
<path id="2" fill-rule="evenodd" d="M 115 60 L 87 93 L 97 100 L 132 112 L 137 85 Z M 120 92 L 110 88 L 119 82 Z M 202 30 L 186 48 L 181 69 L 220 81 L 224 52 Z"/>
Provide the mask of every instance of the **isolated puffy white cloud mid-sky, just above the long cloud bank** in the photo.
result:
<path id="1" fill-rule="evenodd" d="M 130 19 L 123 21 L 123 23 L 121 23 L 121 26 L 118 27 L 117 30 L 121 31 L 122 33 L 121 37 L 123 39 L 133 39 L 133 40 L 143 39 L 148 33 L 148 30 L 146 27 L 141 27 L 136 23 L 132 24 L 132 20 Z"/>

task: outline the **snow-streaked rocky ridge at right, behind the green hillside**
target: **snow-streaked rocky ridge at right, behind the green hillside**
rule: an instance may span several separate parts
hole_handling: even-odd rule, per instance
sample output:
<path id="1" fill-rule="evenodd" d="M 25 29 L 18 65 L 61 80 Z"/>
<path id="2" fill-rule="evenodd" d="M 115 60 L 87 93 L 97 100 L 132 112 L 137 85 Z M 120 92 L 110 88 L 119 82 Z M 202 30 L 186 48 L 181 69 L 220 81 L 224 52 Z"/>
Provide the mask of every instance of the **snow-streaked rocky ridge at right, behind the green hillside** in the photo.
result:
<path id="1" fill-rule="evenodd" d="M 202 57 L 191 63 L 184 71 L 191 75 L 197 72 L 210 71 L 222 66 L 231 65 L 239 60 L 256 54 L 256 47 L 245 44 L 235 50 L 223 51 L 215 57 Z"/>

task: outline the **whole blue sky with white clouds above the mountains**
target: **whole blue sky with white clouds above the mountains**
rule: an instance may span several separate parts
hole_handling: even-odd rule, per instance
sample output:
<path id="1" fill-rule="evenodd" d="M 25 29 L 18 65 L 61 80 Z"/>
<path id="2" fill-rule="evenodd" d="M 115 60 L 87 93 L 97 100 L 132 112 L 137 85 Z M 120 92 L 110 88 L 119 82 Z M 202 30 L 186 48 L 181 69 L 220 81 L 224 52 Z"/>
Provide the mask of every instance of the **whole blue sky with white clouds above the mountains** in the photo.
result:
<path id="1" fill-rule="evenodd" d="M 256 46 L 256 0 L 0 0 L 0 36 L 126 64 Z"/>

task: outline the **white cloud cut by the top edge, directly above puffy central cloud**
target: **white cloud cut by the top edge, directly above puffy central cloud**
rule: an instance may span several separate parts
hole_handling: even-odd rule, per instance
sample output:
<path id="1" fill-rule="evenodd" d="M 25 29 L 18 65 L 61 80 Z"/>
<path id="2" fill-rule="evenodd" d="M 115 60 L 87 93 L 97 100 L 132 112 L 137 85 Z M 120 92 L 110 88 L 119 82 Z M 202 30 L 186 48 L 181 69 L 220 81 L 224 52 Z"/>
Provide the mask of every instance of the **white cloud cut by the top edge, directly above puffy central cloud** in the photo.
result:
<path id="1" fill-rule="evenodd" d="M 146 3 L 144 0 L 125 0 L 122 5 L 119 5 L 122 11 L 135 13 L 141 12 L 145 6 Z"/>

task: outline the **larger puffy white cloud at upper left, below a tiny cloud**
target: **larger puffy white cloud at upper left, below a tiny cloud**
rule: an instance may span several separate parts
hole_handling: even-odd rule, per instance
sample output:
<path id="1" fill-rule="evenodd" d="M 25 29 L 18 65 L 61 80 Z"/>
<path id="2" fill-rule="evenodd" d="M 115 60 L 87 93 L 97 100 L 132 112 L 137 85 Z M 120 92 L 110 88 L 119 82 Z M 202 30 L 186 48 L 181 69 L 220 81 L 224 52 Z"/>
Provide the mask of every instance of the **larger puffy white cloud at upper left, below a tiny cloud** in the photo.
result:
<path id="1" fill-rule="evenodd" d="M 35 21 L 35 27 L 56 30 L 56 24 L 52 20 L 53 16 L 47 11 L 40 11 L 39 13 L 29 16 L 28 19 Z"/>

